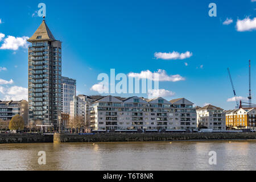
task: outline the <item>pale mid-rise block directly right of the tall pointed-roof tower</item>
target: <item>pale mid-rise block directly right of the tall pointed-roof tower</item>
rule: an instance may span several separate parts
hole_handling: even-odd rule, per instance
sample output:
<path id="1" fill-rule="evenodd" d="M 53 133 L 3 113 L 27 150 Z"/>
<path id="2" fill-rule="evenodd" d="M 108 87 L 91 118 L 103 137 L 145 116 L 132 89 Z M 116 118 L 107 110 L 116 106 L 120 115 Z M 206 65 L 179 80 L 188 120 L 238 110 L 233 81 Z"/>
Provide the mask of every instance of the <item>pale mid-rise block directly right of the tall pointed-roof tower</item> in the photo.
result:
<path id="1" fill-rule="evenodd" d="M 62 113 L 70 113 L 70 102 L 76 96 L 76 80 L 61 77 L 61 108 Z"/>

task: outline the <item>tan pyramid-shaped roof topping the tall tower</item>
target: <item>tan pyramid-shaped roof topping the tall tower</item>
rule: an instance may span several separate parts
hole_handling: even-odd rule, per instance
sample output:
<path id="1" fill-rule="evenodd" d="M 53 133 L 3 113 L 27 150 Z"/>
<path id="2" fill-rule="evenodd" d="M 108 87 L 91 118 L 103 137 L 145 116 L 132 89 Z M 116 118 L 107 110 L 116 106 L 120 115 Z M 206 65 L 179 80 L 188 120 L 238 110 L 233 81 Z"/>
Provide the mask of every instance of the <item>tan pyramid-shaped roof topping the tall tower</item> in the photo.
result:
<path id="1" fill-rule="evenodd" d="M 36 39 L 38 38 L 38 36 L 42 36 L 42 37 L 40 39 Z M 49 30 L 45 20 L 43 20 L 43 22 L 38 27 L 38 30 L 35 31 L 35 33 L 31 36 L 31 38 L 27 39 L 28 42 L 33 42 L 34 40 L 49 40 L 49 41 L 56 40 L 52 35 L 51 31 Z"/>

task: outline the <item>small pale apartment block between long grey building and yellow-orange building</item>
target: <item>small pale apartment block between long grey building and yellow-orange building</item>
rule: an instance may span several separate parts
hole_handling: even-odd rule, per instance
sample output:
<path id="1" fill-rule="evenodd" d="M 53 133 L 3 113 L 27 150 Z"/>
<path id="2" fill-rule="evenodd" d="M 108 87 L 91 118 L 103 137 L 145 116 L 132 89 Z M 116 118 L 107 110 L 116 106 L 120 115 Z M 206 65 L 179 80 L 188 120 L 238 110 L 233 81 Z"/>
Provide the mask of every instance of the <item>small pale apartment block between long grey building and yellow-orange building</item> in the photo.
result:
<path id="1" fill-rule="evenodd" d="M 220 107 L 207 105 L 196 110 L 197 127 L 213 130 L 226 130 L 225 112 Z"/>

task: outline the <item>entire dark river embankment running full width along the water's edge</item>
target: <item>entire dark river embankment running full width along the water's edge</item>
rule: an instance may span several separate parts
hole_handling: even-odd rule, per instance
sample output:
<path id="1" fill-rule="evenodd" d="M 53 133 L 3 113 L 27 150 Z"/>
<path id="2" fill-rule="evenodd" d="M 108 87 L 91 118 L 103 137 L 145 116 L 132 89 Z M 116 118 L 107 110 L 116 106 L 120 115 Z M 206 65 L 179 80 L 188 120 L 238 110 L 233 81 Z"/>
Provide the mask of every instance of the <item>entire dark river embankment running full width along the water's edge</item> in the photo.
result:
<path id="1" fill-rule="evenodd" d="M 179 140 L 248 140 L 256 133 L 101 133 L 0 134 L 1 143 L 160 142 Z"/>

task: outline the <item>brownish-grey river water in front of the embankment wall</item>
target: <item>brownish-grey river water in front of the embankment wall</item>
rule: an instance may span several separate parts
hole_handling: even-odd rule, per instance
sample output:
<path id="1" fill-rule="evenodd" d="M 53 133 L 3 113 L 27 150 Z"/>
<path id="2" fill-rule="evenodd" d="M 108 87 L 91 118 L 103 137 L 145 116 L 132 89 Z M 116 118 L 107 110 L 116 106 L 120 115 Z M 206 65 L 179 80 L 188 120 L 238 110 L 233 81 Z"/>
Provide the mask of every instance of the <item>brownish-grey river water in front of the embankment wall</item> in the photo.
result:
<path id="1" fill-rule="evenodd" d="M 45 151 L 46 164 L 38 163 Z M 209 164 L 209 152 L 216 164 Z M 0 170 L 255 170 L 256 140 L 0 144 Z"/>

